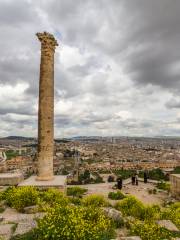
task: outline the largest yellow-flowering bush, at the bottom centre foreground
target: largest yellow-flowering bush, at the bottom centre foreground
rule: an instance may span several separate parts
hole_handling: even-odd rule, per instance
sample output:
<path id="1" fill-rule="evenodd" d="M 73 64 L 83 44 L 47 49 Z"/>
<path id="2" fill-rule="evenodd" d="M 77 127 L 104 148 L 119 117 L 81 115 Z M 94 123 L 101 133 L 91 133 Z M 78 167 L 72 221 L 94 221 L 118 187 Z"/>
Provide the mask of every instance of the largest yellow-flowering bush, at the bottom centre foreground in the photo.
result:
<path id="1" fill-rule="evenodd" d="M 111 221 L 101 209 L 57 205 L 38 221 L 38 239 L 91 240 L 111 239 Z"/>

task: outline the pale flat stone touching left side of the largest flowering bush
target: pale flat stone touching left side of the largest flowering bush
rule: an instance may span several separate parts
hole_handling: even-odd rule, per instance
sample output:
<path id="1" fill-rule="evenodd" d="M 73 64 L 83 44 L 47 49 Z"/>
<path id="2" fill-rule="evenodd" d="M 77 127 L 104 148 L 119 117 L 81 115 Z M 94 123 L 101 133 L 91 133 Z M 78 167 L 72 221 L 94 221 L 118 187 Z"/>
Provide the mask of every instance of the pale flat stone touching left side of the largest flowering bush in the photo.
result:
<path id="1" fill-rule="evenodd" d="M 16 235 L 21 235 L 21 234 L 27 233 L 35 227 L 37 227 L 37 223 L 35 220 L 28 221 L 28 222 L 20 222 L 17 225 L 17 228 L 13 235 L 16 236 Z"/>

